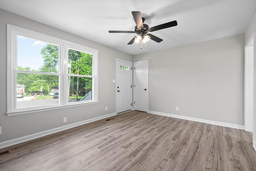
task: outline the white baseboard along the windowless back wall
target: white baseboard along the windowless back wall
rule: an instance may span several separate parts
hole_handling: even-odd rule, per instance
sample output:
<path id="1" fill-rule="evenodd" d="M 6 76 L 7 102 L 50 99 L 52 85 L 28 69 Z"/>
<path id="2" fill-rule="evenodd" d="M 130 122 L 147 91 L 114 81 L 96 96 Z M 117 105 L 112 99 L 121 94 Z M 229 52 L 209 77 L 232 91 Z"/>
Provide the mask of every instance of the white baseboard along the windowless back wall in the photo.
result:
<path id="1" fill-rule="evenodd" d="M 213 125 L 219 125 L 219 126 L 224 126 L 224 127 L 231 127 L 231 128 L 236 128 L 236 129 L 244 129 L 244 125 L 235 125 L 231 123 L 224 123 L 224 122 L 218 122 L 218 121 L 210 121 L 206 119 L 198 119 L 194 117 L 187 117 L 187 116 L 181 116 L 181 115 L 173 115 L 173 114 L 168 114 L 168 113 L 161 113 L 157 111 L 148 111 L 148 113 L 156 114 L 156 115 L 162 115 L 162 116 L 168 116 L 168 117 L 175 117 L 179 119 L 186 119 L 190 121 L 197 121 L 197 122 L 203 122 L 203 123 L 210 123 Z"/>

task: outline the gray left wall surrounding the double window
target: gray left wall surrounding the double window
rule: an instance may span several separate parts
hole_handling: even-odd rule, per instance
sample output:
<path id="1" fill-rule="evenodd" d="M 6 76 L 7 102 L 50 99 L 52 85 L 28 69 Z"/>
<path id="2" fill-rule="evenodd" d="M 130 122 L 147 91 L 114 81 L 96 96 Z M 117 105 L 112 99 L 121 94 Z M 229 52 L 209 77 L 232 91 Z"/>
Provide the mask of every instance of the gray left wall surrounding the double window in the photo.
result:
<path id="1" fill-rule="evenodd" d="M 78 37 L 76 35 L 57 30 L 50 26 L 28 20 L 26 18 L 0 10 L 0 126 L 2 134 L 0 142 L 15 139 L 25 135 L 38 133 L 41 131 L 54 129 L 71 123 L 84 121 L 94 117 L 114 113 L 116 111 L 115 84 L 115 62 L 116 58 L 132 61 L 132 56 L 113 50 L 106 46 L 97 44 L 90 40 Z M 30 113 L 18 116 L 6 116 L 6 24 L 12 24 L 42 34 L 47 34 L 78 43 L 98 50 L 98 85 L 99 85 L 99 103 L 93 105 L 84 105 L 80 107 L 70 107 L 52 111 Z M 108 111 L 105 111 L 108 106 Z M 63 123 L 63 117 L 68 121 Z"/>

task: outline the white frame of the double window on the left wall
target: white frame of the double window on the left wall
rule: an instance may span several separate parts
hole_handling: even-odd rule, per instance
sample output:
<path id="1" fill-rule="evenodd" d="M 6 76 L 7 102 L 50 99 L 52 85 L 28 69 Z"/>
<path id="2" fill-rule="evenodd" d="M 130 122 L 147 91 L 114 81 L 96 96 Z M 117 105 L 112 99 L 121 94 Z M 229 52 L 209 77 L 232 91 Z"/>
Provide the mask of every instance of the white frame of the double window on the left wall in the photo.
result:
<path id="1" fill-rule="evenodd" d="M 16 72 L 17 72 L 17 36 L 24 36 L 48 42 L 59 46 L 59 67 L 58 73 L 51 73 L 59 76 L 59 104 L 30 107 L 17 109 L 16 108 Z M 92 54 L 92 100 L 68 102 L 68 49 L 74 49 L 81 52 Z M 29 73 L 30 71 L 20 71 Z M 31 72 L 33 74 L 49 74 L 45 72 Z M 77 76 L 77 75 L 76 75 Z M 61 109 L 66 107 L 74 107 L 80 105 L 88 105 L 98 103 L 98 50 L 68 42 L 66 40 L 54 38 L 45 34 L 20 28 L 7 24 L 7 116 L 20 115 L 26 113 L 34 113 L 39 111 L 47 111 L 52 109 Z"/>

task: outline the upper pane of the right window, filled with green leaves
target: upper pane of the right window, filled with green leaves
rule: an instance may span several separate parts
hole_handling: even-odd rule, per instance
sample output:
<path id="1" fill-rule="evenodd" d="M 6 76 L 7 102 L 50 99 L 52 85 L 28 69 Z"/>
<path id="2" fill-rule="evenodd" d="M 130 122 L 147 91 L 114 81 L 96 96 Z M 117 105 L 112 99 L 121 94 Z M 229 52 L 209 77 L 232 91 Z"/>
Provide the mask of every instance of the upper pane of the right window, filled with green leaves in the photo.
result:
<path id="1" fill-rule="evenodd" d="M 69 49 L 68 62 L 69 74 L 92 76 L 92 54 Z"/>

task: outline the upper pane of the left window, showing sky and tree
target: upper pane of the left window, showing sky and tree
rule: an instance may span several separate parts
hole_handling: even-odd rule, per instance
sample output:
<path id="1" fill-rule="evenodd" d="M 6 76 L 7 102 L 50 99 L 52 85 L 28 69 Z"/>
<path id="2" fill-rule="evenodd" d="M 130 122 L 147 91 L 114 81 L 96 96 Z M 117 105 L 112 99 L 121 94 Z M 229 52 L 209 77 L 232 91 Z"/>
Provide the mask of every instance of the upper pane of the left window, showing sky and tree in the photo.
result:
<path id="1" fill-rule="evenodd" d="M 17 37 L 18 70 L 58 73 L 59 46 Z"/>

